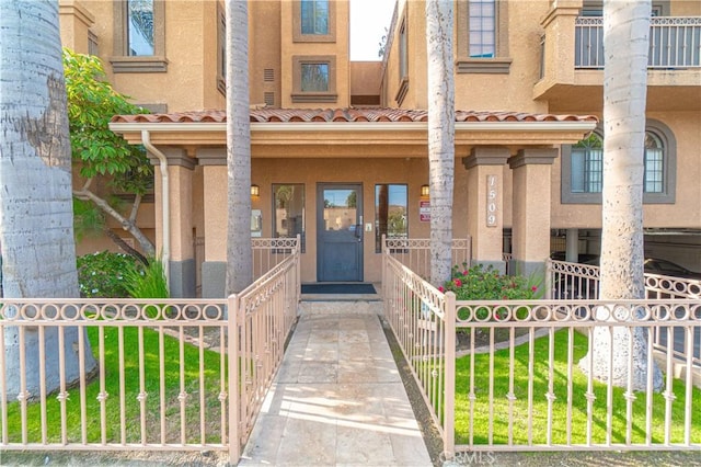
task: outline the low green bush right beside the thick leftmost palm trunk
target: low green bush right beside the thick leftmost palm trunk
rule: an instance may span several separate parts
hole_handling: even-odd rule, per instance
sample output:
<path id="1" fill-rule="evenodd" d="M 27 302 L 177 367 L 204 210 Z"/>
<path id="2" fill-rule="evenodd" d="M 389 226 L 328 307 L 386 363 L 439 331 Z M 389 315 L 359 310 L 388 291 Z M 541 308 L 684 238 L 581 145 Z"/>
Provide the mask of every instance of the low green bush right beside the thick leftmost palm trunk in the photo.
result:
<path id="1" fill-rule="evenodd" d="M 129 296 L 127 275 L 137 270 L 134 257 L 101 251 L 78 258 L 78 282 L 83 298 L 124 298 Z"/>

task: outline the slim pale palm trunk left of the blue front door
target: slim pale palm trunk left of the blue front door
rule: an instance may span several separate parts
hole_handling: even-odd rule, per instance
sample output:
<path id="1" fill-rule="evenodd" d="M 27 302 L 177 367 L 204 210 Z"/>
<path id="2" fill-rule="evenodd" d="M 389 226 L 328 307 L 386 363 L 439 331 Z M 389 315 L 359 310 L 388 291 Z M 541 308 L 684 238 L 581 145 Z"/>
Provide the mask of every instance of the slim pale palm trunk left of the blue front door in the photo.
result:
<path id="1" fill-rule="evenodd" d="M 249 111 L 249 7 L 227 0 L 227 167 L 229 220 L 227 294 L 253 281 L 251 244 L 251 124 Z"/>

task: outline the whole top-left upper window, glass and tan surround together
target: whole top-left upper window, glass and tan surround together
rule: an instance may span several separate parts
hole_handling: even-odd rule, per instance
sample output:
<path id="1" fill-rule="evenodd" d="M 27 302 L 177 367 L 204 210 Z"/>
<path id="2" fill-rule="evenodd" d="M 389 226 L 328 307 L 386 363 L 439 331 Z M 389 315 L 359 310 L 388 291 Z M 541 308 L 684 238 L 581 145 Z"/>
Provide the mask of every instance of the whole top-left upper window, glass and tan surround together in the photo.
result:
<path id="1" fill-rule="evenodd" d="M 166 71 L 163 0 L 115 1 L 114 21 L 115 72 Z"/>

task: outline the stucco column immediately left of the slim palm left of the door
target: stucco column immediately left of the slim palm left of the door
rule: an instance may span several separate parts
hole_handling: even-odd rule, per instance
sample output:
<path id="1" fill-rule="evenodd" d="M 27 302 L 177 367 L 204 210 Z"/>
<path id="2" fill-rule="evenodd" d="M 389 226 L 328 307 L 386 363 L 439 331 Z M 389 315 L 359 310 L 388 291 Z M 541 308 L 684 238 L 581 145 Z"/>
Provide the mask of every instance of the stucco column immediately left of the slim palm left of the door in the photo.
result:
<path id="1" fill-rule="evenodd" d="M 227 149 L 197 150 L 203 166 L 205 261 L 202 297 L 223 298 L 227 287 Z"/>

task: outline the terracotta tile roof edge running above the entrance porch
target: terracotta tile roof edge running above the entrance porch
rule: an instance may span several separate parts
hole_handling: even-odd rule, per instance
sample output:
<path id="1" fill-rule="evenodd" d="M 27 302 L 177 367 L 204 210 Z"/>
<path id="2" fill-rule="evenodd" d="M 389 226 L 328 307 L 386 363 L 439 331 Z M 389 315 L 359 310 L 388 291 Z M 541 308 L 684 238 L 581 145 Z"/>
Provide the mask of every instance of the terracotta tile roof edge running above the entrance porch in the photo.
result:
<path id="1" fill-rule="evenodd" d="M 115 115 L 113 123 L 223 123 L 223 111 L 172 114 Z M 251 122 L 426 122 L 428 113 L 405 109 L 255 109 Z M 597 122 L 593 115 L 530 114 L 521 112 L 457 111 L 456 122 Z"/>

